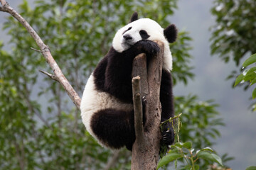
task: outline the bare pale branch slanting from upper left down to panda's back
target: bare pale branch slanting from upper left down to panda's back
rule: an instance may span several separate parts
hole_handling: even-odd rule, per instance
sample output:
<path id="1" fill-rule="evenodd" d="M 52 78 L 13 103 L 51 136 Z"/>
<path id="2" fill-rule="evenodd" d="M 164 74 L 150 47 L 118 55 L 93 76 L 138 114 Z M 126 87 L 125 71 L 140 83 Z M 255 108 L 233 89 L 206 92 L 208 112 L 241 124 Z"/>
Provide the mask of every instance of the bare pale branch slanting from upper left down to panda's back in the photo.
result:
<path id="1" fill-rule="evenodd" d="M 28 22 L 26 22 L 26 20 L 21 15 L 19 15 L 14 10 L 14 8 L 11 8 L 11 6 L 9 6 L 9 4 L 7 4 L 5 0 L 0 0 L 0 2 L 3 5 L 0 7 L 0 11 L 10 13 L 11 16 L 14 16 L 14 18 L 16 18 L 16 20 L 20 22 L 22 26 L 26 28 L 26 30 L 28 30 L 28 33 L 30 33 L 32 38 L 36 40 L 36 44 L 38 45 L 38 47 L 40 47 L 43 57 L 45 57 L 46 62 L 49 64 L 50 68 L 53 69 L 54 77 L 56 77 L 56 80 L 63 86 L 65 91 L 68 93 L 68 96 L 70 96 L 73 103 L 75 103 L 75 106 L 77 106 L 77 108 L 80 108 L 81 99 L 75 92 L 73 87 L 70 85 L 68 80 L 65 78 L 63 72 L 61 72 L 61 69 L 60 67 L 58 67 L 58 64 L 53 59 L 53 56 L 50 53 L 50 48 L 44 44 L 44 42 L 41 40 L 36 31 L 33 30 L 33 28 L 28 24 Z"/>

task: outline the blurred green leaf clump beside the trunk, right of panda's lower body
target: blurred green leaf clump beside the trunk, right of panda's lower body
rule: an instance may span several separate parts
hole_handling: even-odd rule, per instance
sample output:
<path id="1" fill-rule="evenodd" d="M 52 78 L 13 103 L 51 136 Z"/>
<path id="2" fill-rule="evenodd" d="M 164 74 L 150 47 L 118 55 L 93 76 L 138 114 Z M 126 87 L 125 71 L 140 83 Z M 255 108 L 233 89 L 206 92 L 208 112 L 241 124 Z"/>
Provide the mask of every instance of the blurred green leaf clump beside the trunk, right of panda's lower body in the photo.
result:
<path id="1" fill-rule="evenodd" d="M 178 96 L 175 98 L 176 113 L 182 113 L 180 140 L 193 141 L 195 149 L 212 147 L 212 139 L 220 137 L 218 125 L 224 125 L 218 118 L 213 101 L 198 101 L 197 96 Z"/>

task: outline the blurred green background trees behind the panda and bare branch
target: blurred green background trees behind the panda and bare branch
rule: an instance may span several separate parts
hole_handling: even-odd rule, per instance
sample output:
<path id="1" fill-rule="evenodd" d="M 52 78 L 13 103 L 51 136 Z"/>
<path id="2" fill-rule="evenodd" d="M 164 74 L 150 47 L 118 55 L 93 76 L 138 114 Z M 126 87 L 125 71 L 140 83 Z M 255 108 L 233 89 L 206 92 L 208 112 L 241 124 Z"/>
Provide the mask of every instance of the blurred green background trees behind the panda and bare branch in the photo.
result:
<path id="1" fill-rule="evenodd" d="M 23 1 L 19 13 L 41 35 L 81 95 L 90 72 L 110 48 L 114 33 L 129 21 L 133 11 L 166 27 L 174 8 L 176 0 L 40 0 L 33 9 Z M 51 70 L 41 54 L 30 50 L 36 43 L 14 18 L 9 17 L 3 28 L 9 31 L 12 48 L 6 52 L 4 44 L 0 45 L 0 168 L 103 169 L 113 153 L 85 132 L 79 111 L 60 84 L 38 73 L 38 69 Z M 174 84 L 187 84 L 193 78 L 189 42 L 188 33 L 181 31 L 170 46 Z M 188 96 L 177 97 L 176 106 L 176 113 L 183 113 L 182 141 L 193 141 L 195 148 L 213 145 L 210 139 L 220 135 L 215 125 L 222 124 L 215 119 L 215 105 Z M 129 166 L 130 152 L 122 150 L 112 169 Z"/>

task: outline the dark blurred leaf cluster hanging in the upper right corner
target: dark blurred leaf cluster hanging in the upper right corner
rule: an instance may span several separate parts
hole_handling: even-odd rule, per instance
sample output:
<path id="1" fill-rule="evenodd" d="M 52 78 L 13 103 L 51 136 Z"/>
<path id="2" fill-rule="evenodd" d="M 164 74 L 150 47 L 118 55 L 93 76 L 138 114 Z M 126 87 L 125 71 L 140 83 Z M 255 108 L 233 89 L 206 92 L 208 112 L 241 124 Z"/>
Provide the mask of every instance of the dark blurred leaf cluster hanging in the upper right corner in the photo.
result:
<path id="1" fill-rule="evenodd" d="M 219 55 L 224 62 L 233 59 L 240 67 L 243 57 L 256 53 L 255 8 L 254 0 L 215 0 L 211 9 L 216 22 L 210 38 L 212 55 Z M 240 72 L 242 68 L 234 70 L 227 79 L 235 79 Z M 250 86 L 247 82 L 241 85 L 245 90 Z"/>

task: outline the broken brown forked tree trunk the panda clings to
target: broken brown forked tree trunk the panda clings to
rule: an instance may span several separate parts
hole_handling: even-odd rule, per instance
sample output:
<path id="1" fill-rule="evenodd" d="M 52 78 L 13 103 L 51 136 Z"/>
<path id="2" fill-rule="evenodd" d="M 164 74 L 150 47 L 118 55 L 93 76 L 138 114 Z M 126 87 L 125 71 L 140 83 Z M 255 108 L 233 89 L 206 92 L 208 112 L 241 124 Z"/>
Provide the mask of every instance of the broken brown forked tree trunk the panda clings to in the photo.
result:
<path id="1" fill-rule="evenodd" d="M 138 55 L 134 59 L 132 76 L 133 78 L 133 96 L 134 96 L 134 126 L 136 140 L 132 147 L 132 170 L 137 169 L 156 169 L 159 161 L 160 149 L 160 122 L 161 122 L 161 103 L 160 84 L 161 72 L 164 55 L 164 45 L 157 42 L 161 52 L 154 56 L 146 68 L 146 55 Z M 142 86 L 138 90 L 137 86 L 141 80 Z M 141 93 L 139 94 L 139 91 Z M 146 123 L 142 125 L 142 101 L 140 96 L 146 97 Z M 138 99 L 139 98 L 139 99 Z M 142 128 L 143 127 L 143 128 Z"/>

